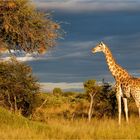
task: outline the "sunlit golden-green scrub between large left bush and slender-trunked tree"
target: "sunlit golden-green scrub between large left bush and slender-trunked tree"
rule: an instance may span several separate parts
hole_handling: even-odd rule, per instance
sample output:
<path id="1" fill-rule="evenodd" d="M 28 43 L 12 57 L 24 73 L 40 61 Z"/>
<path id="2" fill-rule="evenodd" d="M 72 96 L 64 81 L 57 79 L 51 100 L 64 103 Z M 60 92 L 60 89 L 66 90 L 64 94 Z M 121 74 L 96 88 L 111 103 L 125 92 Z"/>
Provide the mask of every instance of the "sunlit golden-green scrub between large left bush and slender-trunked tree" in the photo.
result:
<path id="1" fill-rule="evenodd" d="M 43 102 L 46 103 L 40 108 Z M 47 121 L 48 118 L 76 119 L 85 117 L 87 114 L 88 101 L 85 94 L 60 94 L 54 96 L 49 93 L 40 93 L 35 95 L 33 120 Z M 39 110 L 38 110 L 39 109 Z"/>

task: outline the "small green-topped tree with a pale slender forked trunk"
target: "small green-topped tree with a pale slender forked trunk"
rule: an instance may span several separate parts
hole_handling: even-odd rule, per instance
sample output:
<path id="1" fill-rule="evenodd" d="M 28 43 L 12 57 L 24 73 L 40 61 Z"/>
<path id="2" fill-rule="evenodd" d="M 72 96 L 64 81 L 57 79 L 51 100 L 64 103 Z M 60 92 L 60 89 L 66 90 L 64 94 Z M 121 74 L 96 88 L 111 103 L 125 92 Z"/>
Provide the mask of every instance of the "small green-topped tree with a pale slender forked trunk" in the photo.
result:
<path id="1" fill-rule="evenodd" d="M 90 107 L 88 111 L 88 120 L 91 121 L 91 117 L 93 114 L 93 99 L 94 96 L 99 92 L 99 86 L 96 85 L 95 80 L 88 80 L 84 83 L 84 88 L 86 93 L 90 96 Z"/>

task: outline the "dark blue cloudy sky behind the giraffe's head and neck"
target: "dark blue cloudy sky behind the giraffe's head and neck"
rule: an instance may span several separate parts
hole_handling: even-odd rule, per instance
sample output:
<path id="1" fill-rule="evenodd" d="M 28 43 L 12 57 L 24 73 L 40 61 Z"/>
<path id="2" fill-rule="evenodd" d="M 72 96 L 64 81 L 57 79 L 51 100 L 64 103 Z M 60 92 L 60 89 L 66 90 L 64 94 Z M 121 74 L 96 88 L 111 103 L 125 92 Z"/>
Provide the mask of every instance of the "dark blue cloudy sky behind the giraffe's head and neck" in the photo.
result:
<path id="1" fill-rule="evenodd" d="M 44 12 L 52 12 L 66 35 L 41 59 L 27 62 L 42 83 L 60 87 L 82 85 L 89 79 L 114 82 L 104 55 L 92 54 L 106 43 L 118 64 L 140 76 L 140 0 L 32 0 Z"/>

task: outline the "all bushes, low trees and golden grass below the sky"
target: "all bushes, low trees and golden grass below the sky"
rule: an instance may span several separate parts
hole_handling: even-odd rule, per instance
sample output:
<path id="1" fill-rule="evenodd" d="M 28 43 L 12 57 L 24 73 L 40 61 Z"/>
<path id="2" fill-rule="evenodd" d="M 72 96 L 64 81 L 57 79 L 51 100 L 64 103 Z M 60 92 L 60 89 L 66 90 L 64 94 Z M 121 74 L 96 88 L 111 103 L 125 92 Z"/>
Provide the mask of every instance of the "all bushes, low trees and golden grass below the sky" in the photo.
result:
<path id="1" fill-rule="evenodd" d="M 129 100 L 129 124 L 123 118 L 119 126 L 115 91 L 108 83 L 99 86 L 95 80 L 88 80 L 83 84 L 83 93 L 63 92 L 59 88 L 40 93 L 31 68 L 16 60 L 0 63 L 0 77 L 1 139 L 140 138 L 134 101 Z M 93 93 L 96 94 L 89 122 Z"/>

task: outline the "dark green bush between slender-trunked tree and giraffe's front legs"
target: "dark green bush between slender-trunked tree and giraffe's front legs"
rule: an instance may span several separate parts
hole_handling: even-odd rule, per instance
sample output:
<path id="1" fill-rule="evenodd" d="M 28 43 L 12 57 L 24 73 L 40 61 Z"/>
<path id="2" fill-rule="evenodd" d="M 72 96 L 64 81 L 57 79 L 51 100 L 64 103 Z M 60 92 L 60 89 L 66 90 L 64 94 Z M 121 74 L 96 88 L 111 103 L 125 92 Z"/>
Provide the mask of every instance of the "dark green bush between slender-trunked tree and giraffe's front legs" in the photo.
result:
<path id="1" fill-rule="evenodd" d="M 115 117 L 117 114 L 117 101 L 113 88 L 108 83 L 103 84 L 100 88 L 100 92 L 94 99 L 94 115 L 98 118 Z"/>

